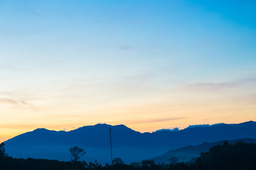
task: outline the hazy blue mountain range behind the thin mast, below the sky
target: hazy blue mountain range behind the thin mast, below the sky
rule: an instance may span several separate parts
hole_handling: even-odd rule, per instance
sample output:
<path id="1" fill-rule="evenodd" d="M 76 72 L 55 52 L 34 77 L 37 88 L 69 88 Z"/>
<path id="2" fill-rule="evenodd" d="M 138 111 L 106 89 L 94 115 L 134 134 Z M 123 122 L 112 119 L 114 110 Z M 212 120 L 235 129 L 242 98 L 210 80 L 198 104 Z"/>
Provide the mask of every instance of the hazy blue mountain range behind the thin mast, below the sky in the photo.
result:
<path id="1" fill-rule="evenodd" d="M 46 158 L 68 161 L 69 148 L 78 146 L 86 151 L 81 160 L 110 163 L 110 135 L 112 128 L 113 158 L 125 163 L 140 162 L 161 155 L 170 149 L 200 145 L 239 138 L 256 139 L 256 122 L 242 124 L 216 124 L 199 126 L 179 131 L 161 130 L 139 133 L 125 125 L 97 124 L 72 131 L 36 129 L 5 142 L 6 152 L 14 158 Z"/>

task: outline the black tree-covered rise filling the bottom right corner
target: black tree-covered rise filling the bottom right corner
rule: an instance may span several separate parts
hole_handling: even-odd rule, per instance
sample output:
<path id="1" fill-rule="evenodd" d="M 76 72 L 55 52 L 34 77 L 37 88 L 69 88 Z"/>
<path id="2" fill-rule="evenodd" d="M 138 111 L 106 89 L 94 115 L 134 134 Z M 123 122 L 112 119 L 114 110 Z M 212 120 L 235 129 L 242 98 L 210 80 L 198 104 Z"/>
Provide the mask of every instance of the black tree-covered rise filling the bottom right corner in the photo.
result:
<path id="1" fill-rule="evenodd" d="M 208 152 L 201 152 L 190 169 L 256 169 L 256 144 L 237 142 L 230 145 L 213 146 Z"/>

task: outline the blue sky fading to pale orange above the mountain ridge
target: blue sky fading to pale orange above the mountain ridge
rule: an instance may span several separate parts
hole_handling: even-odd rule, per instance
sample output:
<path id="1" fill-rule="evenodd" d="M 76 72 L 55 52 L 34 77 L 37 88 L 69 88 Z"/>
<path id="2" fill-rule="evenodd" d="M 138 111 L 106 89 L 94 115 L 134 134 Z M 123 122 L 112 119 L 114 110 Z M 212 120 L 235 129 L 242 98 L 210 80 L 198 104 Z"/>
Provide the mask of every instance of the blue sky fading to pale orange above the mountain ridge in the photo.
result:
<path id="1" fill-rule="evenodd" d="M 256 1 L 0 1 L 0 142 L 37 128 L 256 121 Z"/>

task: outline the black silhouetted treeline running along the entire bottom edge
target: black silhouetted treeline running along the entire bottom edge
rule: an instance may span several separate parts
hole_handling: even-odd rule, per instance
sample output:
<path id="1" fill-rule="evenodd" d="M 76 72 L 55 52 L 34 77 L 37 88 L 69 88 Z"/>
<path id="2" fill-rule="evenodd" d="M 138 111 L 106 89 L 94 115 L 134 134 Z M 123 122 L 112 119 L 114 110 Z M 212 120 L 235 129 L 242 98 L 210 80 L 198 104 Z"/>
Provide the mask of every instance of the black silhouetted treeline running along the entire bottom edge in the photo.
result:
<path id="1" fill-rule="evenodd" d="M 0 144 L 0 169 L 63 169 L 63 170 L 88 170 L 88 169 L 176 169 L 176 170 L 199 170 L 199 169 L 256 169 L 256 144 L 237 142 L 230 145 L 224 142 L 222 145 L 213 146 L 208 152 L 201 152 L 199 158 L 192 159 L 187 163 L 170 164 L 158 163 L 153 160 L 143 160 L 140 163 L 124 164 L 120 158 L 113 160 L 113 165 L 101 165 L 95 162 L 86 163 L 85 161 L 72 160 L 62 162 L 59 160 L 48 159 L 16 159 L 8 156 L 5 152 L 4 143 Z M 174 160 L 174 158 L 170 159 Z"/>

